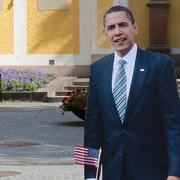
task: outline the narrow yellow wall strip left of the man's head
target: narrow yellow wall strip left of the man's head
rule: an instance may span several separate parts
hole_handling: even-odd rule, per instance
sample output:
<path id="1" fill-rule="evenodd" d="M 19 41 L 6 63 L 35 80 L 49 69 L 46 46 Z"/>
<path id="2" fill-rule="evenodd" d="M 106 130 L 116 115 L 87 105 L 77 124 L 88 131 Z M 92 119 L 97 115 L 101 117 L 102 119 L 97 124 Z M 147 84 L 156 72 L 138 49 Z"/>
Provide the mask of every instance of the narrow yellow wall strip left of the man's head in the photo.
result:
<path id="1" fill-rule="evenodd" d="M 103 16 L 107 9 L 113 5 L 113 0 L 98 0 L 97 1 L 97 46 L 100 48 L 110 48 L 111 45 L 103 34 Z"/>

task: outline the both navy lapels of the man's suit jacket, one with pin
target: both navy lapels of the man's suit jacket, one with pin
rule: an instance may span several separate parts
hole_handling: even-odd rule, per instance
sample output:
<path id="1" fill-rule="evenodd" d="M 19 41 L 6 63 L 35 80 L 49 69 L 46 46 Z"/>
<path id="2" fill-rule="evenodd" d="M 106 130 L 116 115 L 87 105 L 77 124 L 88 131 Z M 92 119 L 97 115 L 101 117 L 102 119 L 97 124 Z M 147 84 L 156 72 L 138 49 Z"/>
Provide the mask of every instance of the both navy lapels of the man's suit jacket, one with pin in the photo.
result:
<path id="1" fill-rule="evenodd" d="M 106 99 L 109 104 L 109 110 L 112 112 L 112 115 L 115 119 L 118 119 L 118 124 L 122 125 L 120 122 L 120 118 L 116 109 L 116 105 L 114 103 L 114 98 L 112 94 L 112 70 L 113 70 L 113 54 L 109 55 L 106 59 L 106 64 L 104 66 L 103 73 L 105 78 L 103 82 L 103 90 L 105 91 Z M 143 82 L 145 80 L 145 77 L 149 71 L 149 61 L 147 61 L 146 53 L 138 49 L 135 67 L 134 67 L 134 73 L 132 77 L 131 87 L 130 87 L 130 93 L 129 93 L 129 99 L 127 104 L 127 110 L 126 110 L 126 116 L 125 116 L 125 124 L 127 121 L 129 121 L 129 116 L 133 110 L 134 103 L 136 102 L 136 99 L 139 97 L 140 90 L 143 86 Z"/>

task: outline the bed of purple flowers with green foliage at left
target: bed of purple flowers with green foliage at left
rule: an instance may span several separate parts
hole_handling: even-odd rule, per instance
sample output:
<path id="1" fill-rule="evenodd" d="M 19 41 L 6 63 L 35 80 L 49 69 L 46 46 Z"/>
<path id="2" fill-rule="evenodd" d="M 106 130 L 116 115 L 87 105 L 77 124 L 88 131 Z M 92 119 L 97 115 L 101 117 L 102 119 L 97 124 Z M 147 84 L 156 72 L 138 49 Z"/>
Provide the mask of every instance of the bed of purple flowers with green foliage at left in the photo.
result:
<path id="1" fill-rule="evenodd" d="M 37 91 L 55 77 L 39 70 L 0 70 L 2 92 Z"/>

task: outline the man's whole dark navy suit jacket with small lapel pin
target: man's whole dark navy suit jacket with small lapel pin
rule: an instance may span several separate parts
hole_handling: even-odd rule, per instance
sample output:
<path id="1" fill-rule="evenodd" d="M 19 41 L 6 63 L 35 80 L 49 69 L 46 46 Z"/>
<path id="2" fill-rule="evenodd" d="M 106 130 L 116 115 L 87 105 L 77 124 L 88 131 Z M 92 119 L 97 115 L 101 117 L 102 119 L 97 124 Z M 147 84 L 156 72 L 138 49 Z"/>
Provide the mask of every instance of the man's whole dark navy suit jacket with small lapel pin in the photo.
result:
<path id="1" fill-rule="evenodd" d="M 122 124 L 111 88 L 113 58 L 91 65 L 85 120 L 84 145 L 102 148 L 103 180 L 126 180 L 120 178 L 124 153 L 133 180 L 180 176 L 180 102 L 172 60 L 138 48 Z M 85 178 L 95 173 L 85 166 Z"/>

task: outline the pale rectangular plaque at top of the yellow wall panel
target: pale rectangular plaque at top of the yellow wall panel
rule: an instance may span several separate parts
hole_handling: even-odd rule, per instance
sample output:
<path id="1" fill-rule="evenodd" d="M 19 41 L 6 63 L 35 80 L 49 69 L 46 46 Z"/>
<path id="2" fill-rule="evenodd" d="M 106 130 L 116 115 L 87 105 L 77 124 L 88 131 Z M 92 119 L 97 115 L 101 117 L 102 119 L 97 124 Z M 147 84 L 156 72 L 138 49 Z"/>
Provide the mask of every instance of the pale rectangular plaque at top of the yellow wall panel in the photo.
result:
<path id="1" fill-rule="evenodd" d="M 38 0 L 39 10 L 68 10 L 68 0 Z"/>

